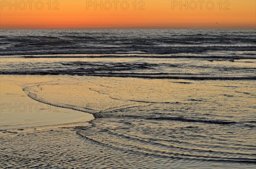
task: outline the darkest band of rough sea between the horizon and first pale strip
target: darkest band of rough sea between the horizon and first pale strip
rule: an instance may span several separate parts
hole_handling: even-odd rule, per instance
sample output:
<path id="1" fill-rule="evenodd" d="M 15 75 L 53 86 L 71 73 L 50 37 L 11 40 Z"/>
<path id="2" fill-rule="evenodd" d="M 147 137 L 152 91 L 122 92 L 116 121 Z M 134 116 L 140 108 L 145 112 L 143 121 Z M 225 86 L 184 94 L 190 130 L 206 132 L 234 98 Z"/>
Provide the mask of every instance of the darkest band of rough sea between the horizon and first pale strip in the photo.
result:
<path id="1" fill-rule="evenodd" d="M 15 32 L 15 34 L 13 34 Z M 252 56 L 255 31 L 246 30 L 1 30 L 1 55 L 29 54 L 193 54 L 230 51 Z M 24 46 L 26 45 L 26 46 Z M 235 52 L 232 52 L 235 51 Z M 180 57 L 186 57 L 177 54 Z M 254 57 L 255 58 L 255 57 Z"/>

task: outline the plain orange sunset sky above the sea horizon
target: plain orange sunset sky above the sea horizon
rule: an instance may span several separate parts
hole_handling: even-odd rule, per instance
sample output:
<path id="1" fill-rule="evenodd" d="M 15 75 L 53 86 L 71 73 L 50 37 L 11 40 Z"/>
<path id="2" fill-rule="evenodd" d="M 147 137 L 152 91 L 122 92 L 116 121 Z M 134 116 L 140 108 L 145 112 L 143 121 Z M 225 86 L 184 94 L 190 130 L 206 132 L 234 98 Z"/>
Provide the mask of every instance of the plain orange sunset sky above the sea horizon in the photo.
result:
<path id="1" fill-rule="evenodd" d="M 0 0 L 0 5 L 0 29 L 256 29 L 256 0 Z"/>

